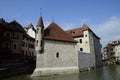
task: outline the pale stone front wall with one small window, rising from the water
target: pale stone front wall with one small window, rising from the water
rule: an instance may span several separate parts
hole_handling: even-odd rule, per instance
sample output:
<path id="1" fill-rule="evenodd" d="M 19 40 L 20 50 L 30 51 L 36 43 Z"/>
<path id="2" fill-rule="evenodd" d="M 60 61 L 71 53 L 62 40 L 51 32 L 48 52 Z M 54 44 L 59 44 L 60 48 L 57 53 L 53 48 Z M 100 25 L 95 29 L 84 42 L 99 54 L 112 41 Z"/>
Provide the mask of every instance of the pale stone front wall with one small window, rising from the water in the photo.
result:
<path id="1" fill-rule="evenodd" d="M 45 40 L 44 52 L 37 53 L 33 76 L 78 72 L 76 43 Z"/>

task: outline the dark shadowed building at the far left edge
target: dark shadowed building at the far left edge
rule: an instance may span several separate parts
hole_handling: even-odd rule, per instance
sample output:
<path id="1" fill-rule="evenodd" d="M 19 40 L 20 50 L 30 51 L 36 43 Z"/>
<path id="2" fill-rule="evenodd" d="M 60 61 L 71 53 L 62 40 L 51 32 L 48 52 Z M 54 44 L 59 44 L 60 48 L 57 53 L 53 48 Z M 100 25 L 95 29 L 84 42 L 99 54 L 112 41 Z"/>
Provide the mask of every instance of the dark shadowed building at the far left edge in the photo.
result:
<path id="1" fill-rule="evenodd" d="M 21 61 L 22 33 L 24 30 L 16 21 L 0 19 L 0 64 L 10 66 Z"/>

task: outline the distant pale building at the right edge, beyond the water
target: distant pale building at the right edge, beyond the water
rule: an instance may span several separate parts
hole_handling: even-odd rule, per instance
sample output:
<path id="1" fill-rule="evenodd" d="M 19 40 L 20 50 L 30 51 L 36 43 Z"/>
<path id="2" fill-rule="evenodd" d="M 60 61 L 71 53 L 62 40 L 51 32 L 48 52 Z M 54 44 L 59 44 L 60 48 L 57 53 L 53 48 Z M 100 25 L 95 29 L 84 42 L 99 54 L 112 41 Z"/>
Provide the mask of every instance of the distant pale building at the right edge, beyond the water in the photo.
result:
<path id="1" fill-rule="evenodd" d="M 120 63 L 120 40 L 115 40 L 109 42 L 104 47 L 104 55 L 107 56 L 108 63 Z"/>

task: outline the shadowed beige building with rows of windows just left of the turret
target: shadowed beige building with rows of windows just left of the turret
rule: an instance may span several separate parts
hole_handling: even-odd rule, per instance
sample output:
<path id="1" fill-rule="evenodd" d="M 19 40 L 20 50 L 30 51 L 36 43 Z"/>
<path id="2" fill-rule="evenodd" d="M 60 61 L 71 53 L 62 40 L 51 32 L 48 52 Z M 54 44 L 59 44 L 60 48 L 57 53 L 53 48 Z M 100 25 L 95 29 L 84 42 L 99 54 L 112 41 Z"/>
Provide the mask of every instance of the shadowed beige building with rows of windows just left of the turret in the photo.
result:
<path id="1" fill-rule="evenodd" d="M 27 33 L 23 34 L 22 40 L 22 55 L 25 62 L 35 62 L 35 39 L 30 37 Z"/>

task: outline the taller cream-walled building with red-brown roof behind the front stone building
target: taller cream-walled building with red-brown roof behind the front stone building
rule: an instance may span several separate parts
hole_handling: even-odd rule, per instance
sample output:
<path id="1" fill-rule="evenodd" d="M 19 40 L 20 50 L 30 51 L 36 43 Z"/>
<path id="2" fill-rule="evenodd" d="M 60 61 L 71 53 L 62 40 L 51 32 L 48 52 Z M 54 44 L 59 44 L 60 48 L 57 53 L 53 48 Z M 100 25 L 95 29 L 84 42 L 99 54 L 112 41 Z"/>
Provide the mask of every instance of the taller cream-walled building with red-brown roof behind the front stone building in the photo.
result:
<path id="1" fill-rule="evenodd" d="M 99 67 L 102 65 L 100 38 L 86 25 L 81 28 L 66 31 L 78 41 L 76 51 L 89 53 L 90 66 Z"/>

